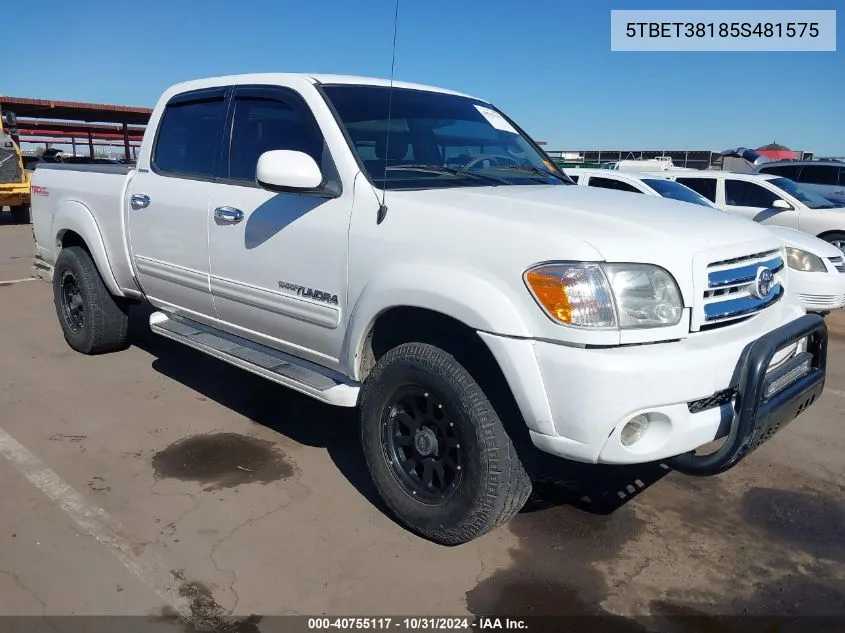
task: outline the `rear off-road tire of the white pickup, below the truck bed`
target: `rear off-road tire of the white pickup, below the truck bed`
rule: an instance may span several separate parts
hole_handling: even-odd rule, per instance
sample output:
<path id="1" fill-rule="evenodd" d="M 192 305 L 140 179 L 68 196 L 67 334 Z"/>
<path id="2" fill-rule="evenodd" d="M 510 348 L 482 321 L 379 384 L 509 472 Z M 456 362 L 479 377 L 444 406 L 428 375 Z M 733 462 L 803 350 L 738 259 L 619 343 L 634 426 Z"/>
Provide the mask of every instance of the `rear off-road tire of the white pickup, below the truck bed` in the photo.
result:
<path id="1" fill-rule="evenodd" d="M 82 323 L 74 327 L 63 304 L 63 283 L 75 282 L 82 302 Z M 124 349 L 128 343 L 129 311 L 103 283 L 88 252 L 80 246 L 63 248 L 53 269 L 53 303 L 65 340 L 83 354 Z"/>

